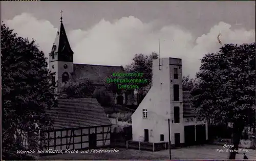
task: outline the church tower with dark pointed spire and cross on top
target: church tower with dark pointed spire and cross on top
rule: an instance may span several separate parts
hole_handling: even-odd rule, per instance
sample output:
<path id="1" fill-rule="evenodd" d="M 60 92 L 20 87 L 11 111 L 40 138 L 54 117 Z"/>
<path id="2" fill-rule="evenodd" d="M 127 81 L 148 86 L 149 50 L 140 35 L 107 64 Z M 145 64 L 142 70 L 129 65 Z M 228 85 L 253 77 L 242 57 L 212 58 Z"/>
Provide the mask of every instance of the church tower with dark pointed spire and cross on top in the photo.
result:
<path id="1" fill-rule="evenodd" d="M 62 12 L 62 11 L 61 11 Z M 60 17 L 60 29 L 57 32 L 49 57 L 50 71 L 55 73 L 57 89 L 68 82 L 73 75 L 73 51 L 71 50 L 68 37 Z"/>

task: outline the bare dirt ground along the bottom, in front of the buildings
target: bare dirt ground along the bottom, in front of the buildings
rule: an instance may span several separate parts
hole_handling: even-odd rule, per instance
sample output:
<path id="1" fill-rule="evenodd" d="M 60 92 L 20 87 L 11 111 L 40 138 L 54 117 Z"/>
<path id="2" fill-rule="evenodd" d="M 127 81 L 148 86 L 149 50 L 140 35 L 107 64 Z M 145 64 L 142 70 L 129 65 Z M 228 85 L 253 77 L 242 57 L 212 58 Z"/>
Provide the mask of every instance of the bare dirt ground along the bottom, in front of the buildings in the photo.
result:
<path id="1" fill-rule="evenodd" d="M 113 148 L 105 148 L 113 149 Z M 202 145 L 202 146 L 191 146 L 178 149 L 172 149 L 171 159 L 220 159 L 227 160 L 229 153 L 218 152 L 217 149 L 224 149 L 220 145 Z M 50 156 L 42 156 L 39 160 L 116 160 L 116 159 L 169 159 L 169 151 L 162 150 L 157 152 L 140 151 L 133 149 L 116 148 L 119 150 L 117 153 L 75 153 L 75 154 L 57 154 Z M 224 149 L 226 150 L 226 149 Z M 237 154 L 236 159 L 243 159 L 243 153 Z M 246 153 L 248 159 L 256 160 L 256 150 L 248 149 Z"/>

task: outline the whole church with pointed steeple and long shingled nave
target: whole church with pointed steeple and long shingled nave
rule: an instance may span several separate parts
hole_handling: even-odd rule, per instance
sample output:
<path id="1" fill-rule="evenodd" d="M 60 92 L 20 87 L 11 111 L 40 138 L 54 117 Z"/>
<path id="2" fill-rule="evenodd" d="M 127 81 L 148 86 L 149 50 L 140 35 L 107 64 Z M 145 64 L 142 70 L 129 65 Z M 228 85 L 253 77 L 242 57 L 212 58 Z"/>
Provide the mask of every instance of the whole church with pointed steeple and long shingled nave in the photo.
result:
<path id="1" fill-rule="evenodd" d="M 52 81 L 57 82 L 57 90 L 61 85 L 69 80 L 88 78 L 95 86 L 94 93 L 105 91 L 105 80 L 113 73 L 123 73 L 123 66 L 75 64 L 73 62 L 74 52 L 71 49 L 63 22 L 60 18 L 60 29 L 54 40 L 51 53 L 49 55 L 50 71 L 55 73 Z M 136 105 L 134 93 L 110 94 L 110 100 L 115 105 Z"/>

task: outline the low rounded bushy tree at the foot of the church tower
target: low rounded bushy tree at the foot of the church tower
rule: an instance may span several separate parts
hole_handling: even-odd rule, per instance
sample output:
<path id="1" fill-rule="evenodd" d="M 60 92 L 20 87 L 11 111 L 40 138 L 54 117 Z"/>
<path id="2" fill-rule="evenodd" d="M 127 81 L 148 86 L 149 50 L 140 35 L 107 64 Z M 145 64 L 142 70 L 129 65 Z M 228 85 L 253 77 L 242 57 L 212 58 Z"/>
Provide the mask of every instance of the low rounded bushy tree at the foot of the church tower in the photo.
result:
<path id="1" fill-rule="evenodd" d="M 87 78 L 71 79 L 60 88 L 61 98 L 89 98 L 92 97 L 95 86 Z"/>

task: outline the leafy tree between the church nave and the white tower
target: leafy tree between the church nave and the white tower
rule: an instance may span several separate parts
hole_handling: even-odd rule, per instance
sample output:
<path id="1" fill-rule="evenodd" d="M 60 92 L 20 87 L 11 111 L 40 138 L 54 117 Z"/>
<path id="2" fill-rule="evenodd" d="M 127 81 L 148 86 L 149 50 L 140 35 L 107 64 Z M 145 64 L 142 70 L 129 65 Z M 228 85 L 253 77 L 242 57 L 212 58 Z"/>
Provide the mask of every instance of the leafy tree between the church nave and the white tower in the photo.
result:
<path id="1" fill-rule="evenodd" d="M 152 85 L 152 62 L 153 59 L 158 59 L 157 53 L 152 53 L 150 56 L 144 54 L 135 54 L 133 62 L 125 67 L 126 73 L 143 73 L 143 77 L 130 77 L 129 79 L 146 79 L 147 83 L 131 83 L 138 85 L 138 104 L 146 96 Z"/>

